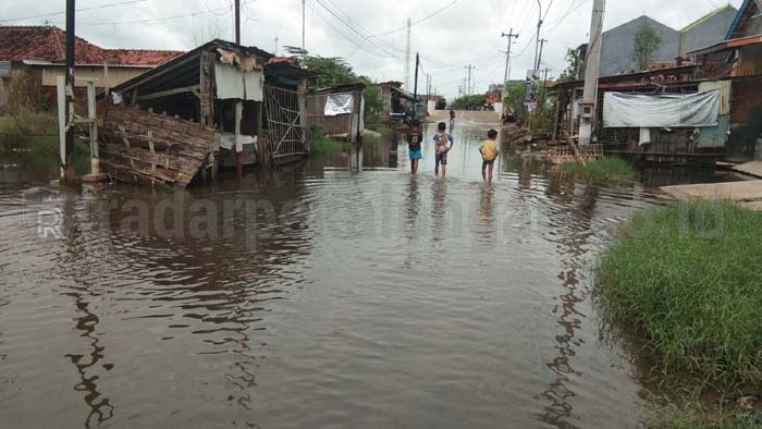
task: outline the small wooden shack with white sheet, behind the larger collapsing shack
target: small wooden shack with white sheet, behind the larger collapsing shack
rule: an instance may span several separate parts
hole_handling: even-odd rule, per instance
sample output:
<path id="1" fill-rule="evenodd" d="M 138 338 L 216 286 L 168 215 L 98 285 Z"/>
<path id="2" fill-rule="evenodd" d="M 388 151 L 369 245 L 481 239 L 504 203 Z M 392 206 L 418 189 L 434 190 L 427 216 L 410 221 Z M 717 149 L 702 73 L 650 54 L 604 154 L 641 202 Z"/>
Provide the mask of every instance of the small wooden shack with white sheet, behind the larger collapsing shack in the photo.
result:
<path id="1" fill-rule="evenodd" d="M 321 125 L 332 138 L 357 143 L 365 128 L 365 84 L 351 84 L 310 90 L 307 96 L 307 125 Z"/>

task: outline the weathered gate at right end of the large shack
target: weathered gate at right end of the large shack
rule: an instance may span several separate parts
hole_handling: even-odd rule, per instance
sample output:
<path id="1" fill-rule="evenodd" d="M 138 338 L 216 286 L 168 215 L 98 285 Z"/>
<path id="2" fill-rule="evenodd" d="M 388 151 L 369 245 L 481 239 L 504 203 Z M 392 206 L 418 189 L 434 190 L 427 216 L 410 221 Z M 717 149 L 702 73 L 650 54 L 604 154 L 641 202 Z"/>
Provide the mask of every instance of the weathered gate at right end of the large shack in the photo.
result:
<path id="1" fill-rule="evenodd" d="M 265 119 L 268 130 L 268 138 L 262 148 L 265 162 L 279 163 L 290 157 L 300 158 L 309 154 L 303 115 L 297 91 L 265 85 Z"/>

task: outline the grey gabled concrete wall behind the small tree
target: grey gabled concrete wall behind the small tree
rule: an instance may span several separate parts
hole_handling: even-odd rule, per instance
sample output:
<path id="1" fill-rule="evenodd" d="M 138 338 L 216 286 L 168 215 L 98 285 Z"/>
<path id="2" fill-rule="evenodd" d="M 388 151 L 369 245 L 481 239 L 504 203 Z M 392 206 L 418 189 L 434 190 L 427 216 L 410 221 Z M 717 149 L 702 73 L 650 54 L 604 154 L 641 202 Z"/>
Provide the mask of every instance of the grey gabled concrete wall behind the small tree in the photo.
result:
<path id="1" fill-rule="evenodd" d="M 639 71 L 632 60 L 635 34 L 641 25 L 648 23 L 653 30 L 662 36 L 662 45 L 651 58 L 652 62 L 674 62 L 678 52 L 679 33 L 646 15 L 619 25 L 603 33 L 601 46 L 601 76 L 617 74 L 624 71 Z"/>

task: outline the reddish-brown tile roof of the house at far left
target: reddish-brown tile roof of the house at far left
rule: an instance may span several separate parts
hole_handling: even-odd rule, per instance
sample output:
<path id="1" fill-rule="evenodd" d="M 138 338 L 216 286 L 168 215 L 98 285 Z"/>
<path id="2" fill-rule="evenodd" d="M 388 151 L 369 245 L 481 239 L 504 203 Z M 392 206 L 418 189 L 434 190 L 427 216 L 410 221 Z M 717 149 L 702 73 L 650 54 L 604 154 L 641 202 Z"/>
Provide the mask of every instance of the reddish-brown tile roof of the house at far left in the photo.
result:
<path id="1" fill-rule="evenodd" d="M 0 26 L 0 61 L 42 60 L 65 61 L 66 33 L 53 26 Z M 183 52 L 143 49 L 105 49 L 76 37 L 74 57 L 76 64 L 153 66 L 167 62 Z"/>

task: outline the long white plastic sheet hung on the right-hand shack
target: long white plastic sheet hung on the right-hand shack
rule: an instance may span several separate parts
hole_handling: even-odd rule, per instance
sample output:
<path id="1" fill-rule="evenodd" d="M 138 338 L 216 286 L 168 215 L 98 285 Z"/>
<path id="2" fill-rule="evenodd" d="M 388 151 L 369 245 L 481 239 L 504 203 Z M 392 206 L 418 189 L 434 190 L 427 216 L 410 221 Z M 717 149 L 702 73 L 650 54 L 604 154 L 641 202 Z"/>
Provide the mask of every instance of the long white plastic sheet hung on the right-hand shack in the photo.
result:
<path id="1" fill-rule="evenodd" d="M 720 90 L 696 94 L 603 95 L 605 127 L 716 126 Z"/>

